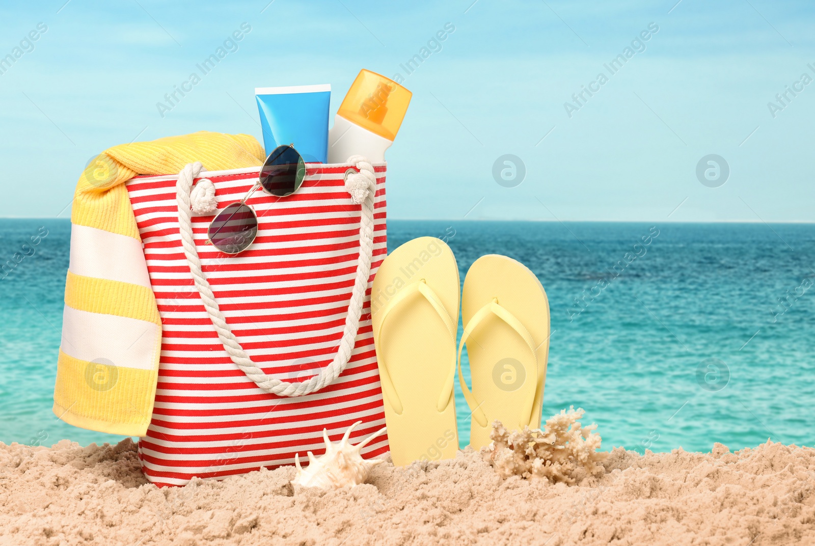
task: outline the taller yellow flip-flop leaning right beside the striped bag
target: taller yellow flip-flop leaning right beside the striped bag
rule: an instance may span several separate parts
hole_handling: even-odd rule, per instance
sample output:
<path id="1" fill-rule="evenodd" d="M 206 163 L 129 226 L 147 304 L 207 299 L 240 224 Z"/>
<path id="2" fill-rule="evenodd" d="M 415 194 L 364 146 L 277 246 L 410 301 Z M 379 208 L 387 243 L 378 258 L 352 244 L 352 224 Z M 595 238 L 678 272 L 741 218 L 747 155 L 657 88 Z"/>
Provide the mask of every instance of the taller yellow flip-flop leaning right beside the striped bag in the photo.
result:
<path id="1" fill-rule="evenodd" d="M 394 465 L 454 458 L 459 274 L 450 247 L 420 237 L 395 249 L 373 280 L 371 310 Z"/>

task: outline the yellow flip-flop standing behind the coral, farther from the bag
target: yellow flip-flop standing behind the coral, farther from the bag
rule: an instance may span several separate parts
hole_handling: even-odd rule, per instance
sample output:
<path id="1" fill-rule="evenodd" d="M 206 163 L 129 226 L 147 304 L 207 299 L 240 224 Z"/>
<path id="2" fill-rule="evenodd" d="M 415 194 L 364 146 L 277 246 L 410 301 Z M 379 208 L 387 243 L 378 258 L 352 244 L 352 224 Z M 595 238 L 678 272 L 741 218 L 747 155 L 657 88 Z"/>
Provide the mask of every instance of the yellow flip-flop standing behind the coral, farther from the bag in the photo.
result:
<path id="1" fill-rule="evenodd" d="M 461 390 L 472 412 L 470 445 L 490 443 L 493 421 L 508 429 L 540 428 L 549 351 L 549 303 L 544 287 L 522 263 L 488 254 L 464 280 L 458 350 Z M 467 346 L 472 392 L 461 374 Z"/>

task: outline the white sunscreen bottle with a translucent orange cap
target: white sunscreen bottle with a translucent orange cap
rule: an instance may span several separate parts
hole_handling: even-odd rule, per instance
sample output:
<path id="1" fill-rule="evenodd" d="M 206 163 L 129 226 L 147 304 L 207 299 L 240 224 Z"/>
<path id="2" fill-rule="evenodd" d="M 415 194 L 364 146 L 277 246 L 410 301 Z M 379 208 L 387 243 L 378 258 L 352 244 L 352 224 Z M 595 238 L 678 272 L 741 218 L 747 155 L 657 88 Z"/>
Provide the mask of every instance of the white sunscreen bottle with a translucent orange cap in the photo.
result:
<path id="1" fill-rule="evenodd" d="M 389 78 L 361 70 L 328 131 L 328 163 L 345 163 L 356 155 L 372 163 L 385 161 L 412 95 Z"/>

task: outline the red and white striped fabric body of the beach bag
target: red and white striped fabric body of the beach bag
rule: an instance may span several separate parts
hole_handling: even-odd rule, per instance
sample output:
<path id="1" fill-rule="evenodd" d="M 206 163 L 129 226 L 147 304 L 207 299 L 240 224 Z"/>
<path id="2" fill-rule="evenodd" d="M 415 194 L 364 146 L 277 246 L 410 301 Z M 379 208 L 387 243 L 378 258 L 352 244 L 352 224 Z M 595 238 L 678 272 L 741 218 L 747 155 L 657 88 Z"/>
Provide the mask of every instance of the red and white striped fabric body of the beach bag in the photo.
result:
<path id="1" fill-rule="evenodd" d="M 263 372 L 287 381 L 305 381 L 332 361 L 359 257 L 360 205 L 343 185 L 352 165 L 307 166 L 293 196 L 258 191 L 249 199 L 258 236 L 237 256 L 206 244 L 213 216 L 192 217 L 203 271 L 232 332 Z M 324 452 L 324 428 L 337 441 L 355 421 L 363 421 L 352 434 L 358 439 L 385 425 L 370 315 L 371 282 L 386 253 L 385 165 L 375 165 L 375 172 L 371 275 L 355 350 L 332 385 L 293 398 L 260 390 L 218 341 L 181 245 L 178 175 L 126 183 L 162 323 L 156 403 L 148 435 L 139 440 L 148 480 L 183 485 L 193 476 L 292 465 L 295 453 Z M 249 191 L 258 168 L 200 178 L 212 180 L 222 209 Z M 363 457 L 386 451 L 383 434 Z"/>

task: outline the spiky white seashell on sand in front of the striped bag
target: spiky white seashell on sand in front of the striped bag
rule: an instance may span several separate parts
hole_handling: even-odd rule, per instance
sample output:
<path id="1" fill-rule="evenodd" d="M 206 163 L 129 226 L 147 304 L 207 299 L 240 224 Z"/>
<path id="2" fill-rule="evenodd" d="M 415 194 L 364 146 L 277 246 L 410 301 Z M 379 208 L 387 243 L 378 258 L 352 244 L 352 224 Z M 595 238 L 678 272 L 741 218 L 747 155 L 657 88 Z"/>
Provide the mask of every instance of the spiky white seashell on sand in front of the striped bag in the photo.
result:
<path id="1" fill-rule="evenodd" d="M 362 424 L 362 421 L 350 425 L 339 443 L 331 443 L 331 440 L 328 439 L 328 431 L 323 429 L 325 455 L 317 458 L 309 451 L 309 464 L 305 469 L 300 466 L 300 455 L 295 455 L 294 465 L 297 466 L 297 477 L 292 480 L 292 483 L 321 489 L 339 489 L 341 487 L 354 487 L 368 479 L 368 473 L 371 469 L 385 461 L 365 460 L 359 455 L 359 451 L 368 445 L 373 438 L 377 438 L 377 436 L 385 432 L 386 427 L 377 430 L 362 442 L 352 446 L 348 442 L 348 438 L 351 431 L 360 424 Z"/>

